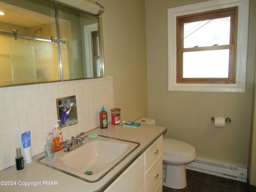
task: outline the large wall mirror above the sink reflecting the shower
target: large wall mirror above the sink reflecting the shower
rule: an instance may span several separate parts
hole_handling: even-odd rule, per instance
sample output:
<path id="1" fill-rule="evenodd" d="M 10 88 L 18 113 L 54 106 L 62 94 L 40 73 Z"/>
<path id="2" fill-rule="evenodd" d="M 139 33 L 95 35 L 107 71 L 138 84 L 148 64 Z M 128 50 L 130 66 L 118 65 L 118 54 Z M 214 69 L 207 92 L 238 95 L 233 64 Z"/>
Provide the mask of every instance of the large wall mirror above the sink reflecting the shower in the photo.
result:
<path id="1" fill-rule="evenodd" d="M 52 0 L 0 0 L 0 87 L 104 76 L 101 18 Z"/>

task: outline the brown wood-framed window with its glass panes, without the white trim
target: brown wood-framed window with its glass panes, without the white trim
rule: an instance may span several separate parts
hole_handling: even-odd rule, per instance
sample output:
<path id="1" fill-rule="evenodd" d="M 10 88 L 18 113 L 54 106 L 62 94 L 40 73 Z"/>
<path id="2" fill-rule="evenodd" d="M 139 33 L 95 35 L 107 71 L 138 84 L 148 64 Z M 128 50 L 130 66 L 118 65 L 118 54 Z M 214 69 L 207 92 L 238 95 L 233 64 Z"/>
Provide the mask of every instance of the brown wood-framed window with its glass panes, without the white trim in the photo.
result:
<path id="1" fill-rule="evenodd" d="M 238 7 L 178 16 L 177 83 L 235 83 Z"/>

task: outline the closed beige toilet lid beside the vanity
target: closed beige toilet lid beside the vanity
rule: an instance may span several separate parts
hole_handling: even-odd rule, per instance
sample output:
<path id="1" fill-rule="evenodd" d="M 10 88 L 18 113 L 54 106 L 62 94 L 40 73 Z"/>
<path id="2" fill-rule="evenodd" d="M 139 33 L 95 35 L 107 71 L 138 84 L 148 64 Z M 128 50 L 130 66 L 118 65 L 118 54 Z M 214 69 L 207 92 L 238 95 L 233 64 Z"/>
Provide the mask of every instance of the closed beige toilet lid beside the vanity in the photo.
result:
<path id="1" fill-rule="evenodd" d="M 164 138 L 163 154 L 170 155 L 190 155 L 196 152 L 196 149 L 185 142 Z"/>

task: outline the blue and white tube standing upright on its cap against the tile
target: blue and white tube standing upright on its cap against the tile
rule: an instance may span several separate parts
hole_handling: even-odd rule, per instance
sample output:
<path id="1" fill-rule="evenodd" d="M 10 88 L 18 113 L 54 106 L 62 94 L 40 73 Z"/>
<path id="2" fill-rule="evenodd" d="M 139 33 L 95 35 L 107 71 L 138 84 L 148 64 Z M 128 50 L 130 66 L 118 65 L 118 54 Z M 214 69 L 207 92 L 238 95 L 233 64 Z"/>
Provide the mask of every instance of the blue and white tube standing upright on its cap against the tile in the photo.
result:
<path id="1" fill-rule="evenodd" d="M 30 147 L 30 130 L 21 134 L 21 141 L 24 150 L 25 162 L 30 163 L 32 162 L 32 154 Z"/>

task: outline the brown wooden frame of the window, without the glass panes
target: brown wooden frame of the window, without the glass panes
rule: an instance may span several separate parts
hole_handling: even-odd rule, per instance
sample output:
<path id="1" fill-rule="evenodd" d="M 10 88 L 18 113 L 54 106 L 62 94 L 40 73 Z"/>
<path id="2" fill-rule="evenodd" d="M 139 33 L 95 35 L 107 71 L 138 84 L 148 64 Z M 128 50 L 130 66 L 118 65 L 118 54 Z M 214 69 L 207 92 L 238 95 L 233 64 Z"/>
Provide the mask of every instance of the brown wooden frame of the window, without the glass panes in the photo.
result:
<path id="1" fill-rule="evenodd" d="M 208 19 L 224 18 L 230 16 L 230 44 L 219 46 L 184 48 L 184 23 L 196 22 Z M 200 83 L 200 84 L 234 84 L 236 82 L 236 47 L 238 28 L 238 6 L 188 14 L 176 18 L 176 82 Z M 183 78 L 183 53 L 191 51 L 229 49 L 228 78 Z M 214 67 L 214 66 L 212 66 Z"/>

